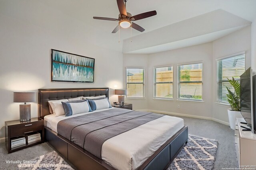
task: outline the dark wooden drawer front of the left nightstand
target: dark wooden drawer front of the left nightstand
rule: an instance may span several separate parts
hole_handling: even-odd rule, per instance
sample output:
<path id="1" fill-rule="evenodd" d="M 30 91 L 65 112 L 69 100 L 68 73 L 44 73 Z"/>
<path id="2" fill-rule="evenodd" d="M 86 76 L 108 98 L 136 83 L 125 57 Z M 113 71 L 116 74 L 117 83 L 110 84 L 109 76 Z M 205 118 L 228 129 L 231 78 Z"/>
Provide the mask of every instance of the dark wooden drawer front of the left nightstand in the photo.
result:
<path id="1" fill-rule="evenodd" d="M 27 133 L 40 131 L 43 127 L 43 122 L 39 123 L 28 123 L 26 125 L 20 125 L 15 127 L 10 127 L 10 137 L 15 137 L 19 135 L 24 135 Z"/>

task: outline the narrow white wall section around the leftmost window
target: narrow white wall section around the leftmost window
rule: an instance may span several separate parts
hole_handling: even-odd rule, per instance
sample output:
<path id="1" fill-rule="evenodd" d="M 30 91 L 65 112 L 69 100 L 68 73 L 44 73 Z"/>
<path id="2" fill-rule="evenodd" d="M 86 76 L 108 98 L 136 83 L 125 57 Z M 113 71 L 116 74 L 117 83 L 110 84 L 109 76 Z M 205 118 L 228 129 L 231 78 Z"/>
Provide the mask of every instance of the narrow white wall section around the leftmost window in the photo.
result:
<path id="1" fill-rule="evenodd" d="M 145 68 L 145 98 L 144 99 L 125 99 L 125 103 L 132 104 L 132 109 L 148 109 L 148 55 L 146 54 L 124 54 L 123 55 L 123 88 L 126 88 L 126 67 Z"/>

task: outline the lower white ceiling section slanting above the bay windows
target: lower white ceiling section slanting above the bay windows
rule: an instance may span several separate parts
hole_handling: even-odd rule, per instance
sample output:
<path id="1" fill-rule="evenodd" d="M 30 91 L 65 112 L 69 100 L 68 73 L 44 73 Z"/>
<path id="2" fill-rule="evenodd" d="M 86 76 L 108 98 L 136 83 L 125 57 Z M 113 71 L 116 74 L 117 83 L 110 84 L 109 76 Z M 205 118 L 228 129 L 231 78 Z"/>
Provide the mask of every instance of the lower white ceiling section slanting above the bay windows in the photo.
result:
<path id="1" fill-rule="evenodd" d="M 123 53 L 150 54 L 208 43 L 250 24 L 229 12 L 215 10 L 136 35 L 132 43 L 125 39 Z"/>

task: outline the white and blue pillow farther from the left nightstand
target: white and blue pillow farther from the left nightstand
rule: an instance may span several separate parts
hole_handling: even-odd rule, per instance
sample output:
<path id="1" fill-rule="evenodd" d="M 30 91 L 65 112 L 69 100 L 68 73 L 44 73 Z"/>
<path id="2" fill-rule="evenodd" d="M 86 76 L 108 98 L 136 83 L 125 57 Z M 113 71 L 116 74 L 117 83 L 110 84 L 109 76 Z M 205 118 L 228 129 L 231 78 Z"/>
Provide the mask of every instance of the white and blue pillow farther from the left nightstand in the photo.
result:
<path id="1" fill-rule="evenodd" d="M 92 111 L 99 110 L 99 109 L 107 109 L 112 107 L 108 98 L 98 98 L 98 99 L 92 99 L 92 100 L 88 99 L 88 102 L 90 104 Z"/>

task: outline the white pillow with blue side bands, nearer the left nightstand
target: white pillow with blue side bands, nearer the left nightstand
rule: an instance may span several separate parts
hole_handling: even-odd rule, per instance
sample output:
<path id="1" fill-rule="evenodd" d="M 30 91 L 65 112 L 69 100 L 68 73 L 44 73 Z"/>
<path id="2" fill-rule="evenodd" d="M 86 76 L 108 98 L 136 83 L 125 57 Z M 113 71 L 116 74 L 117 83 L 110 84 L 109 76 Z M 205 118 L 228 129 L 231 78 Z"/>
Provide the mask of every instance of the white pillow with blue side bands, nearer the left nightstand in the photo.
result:
<path id="1" fill-rule="evenodd" d="M 74 101 L 61 102 L 61 103 L 64 107 L 66 116 L 71 116 L 78 113 L 86 113 L 86 112 L 92 111 L 88 100 L 74 100 Z"/>

